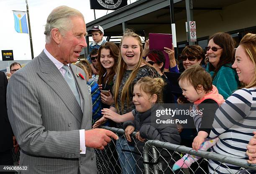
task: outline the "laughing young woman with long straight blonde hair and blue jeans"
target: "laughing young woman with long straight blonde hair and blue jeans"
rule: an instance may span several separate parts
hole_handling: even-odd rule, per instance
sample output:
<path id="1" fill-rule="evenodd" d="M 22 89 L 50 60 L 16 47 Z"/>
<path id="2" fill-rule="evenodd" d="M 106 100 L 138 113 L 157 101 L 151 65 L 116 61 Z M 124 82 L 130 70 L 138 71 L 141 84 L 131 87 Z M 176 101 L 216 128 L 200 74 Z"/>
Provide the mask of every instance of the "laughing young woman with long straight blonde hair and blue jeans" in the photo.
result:
<path id="1" fill-rule="evenodd" d="M 135 105 L 133 99 L 133 86 L 141 77 L 160 77 L 158 72 L 148 66 L 142 59 L 141 38 L 131 30 L 126 30 L 120 42 L 120 53 L 118 56 L 118 68 L 114 77 L 114 105 L 110 109 L 103 109 L 104 118 L 117 123 L 117 128 L 123 128 L 123 122 L 134 120 Z M 133 112 L 132 112 L 133 111 Z M 95 123 L 100 125 L 103 118 Z M 130 129 L 132 133 L 134 128 Z M 136 173 L 136 161 L 131 153 L 133 144 L 128 145 L 125 137 L 119 135 L 117 151 L 123 174 Z"/>

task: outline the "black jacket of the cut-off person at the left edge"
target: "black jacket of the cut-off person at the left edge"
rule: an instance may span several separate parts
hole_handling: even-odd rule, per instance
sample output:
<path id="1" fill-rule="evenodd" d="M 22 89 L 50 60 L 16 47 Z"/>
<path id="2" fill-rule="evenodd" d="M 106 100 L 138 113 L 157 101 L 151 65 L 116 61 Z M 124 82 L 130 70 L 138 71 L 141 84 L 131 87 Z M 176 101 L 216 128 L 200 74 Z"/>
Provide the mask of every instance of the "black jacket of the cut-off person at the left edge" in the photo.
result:
<path id="1" fill-rule="evenodd" d="M 0 151 L 7 151 L 13 148 L 13 131 L 7 115 L 6 108 L 6 89 L 7 78 L 5 73 L 0 71 Z"/>

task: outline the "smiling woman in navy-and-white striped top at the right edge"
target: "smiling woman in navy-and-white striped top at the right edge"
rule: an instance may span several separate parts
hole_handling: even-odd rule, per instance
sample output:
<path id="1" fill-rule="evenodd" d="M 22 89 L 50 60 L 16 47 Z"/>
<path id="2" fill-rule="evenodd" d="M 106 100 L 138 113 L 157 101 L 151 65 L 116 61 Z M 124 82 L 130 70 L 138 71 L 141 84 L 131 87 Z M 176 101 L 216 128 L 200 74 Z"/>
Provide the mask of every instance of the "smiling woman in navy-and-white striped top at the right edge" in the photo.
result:
<path id="1" fill-rule="evenodd" d="M 239 81 L 246 84 L 234 92 L 215 113 L 210 138 L 219 137 L 212 151 L 226 156 L 248 159 L 246 146 L 256 131 L 256 34 L 246 34 L 236 49 Z M 209 160 L 209 173 L 237 173 L 239 166 Z"/>

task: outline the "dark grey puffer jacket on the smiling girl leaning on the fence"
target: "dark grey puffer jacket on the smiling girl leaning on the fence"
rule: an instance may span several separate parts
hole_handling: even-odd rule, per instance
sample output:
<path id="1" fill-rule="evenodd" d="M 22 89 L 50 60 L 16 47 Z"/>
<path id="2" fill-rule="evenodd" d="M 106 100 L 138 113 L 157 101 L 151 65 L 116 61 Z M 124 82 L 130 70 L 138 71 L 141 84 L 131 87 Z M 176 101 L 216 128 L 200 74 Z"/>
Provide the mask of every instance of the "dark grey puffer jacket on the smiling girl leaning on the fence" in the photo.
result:
<path id="1" fill-rule="evenodd" d="M 169 142 L 173 144 L 180 144 L 180 136 L 177 130 L 177 127 L 175 124 L 164 124 L 164 123 L 156 123 L 157 119 L 160 120 L 167 120 L 171 119 L 169 116 L 161 115 L 160 117 L 156 117 L 156 110 L 164 110 L 164 107 L 162 107 L 159 104 L 155 104 L 150 110 L 146 111 L 145 113 L 138 113 L 134 121 L 127 121 L 123 124 L 124 129 L 128 125 L 133 125 L 135 127 L 136 132 L 140 132 L 140 136 L 142 138 L 146 138 L 147 140 L 159 140 L 163 142 Z M 143 146 L 145 145 L 145 142 L 135 140 L 135 152 L 136 152 L 136 161 L 137 161 L 137 168 L 136 172 L 137 174 L 142 173 L 141 171 L 144 170 L 143 167 L 143 159 L 142 159 L 142 152 L 143 152 Z M 161 151 L 160 148 L 158 148 L 158 151 L 161 152 L 161 156 L 159 158 L 159 162 L 162 162 L 163 168 L 166 168 L 163 161 L 170 161 L 174 156 L 171 156 L 170 154 L 174 154 L 171 151 Z M 165 163 L 166 164 L 166 163 Z M 173 165 L 173 164 L 169 164 Z"/>

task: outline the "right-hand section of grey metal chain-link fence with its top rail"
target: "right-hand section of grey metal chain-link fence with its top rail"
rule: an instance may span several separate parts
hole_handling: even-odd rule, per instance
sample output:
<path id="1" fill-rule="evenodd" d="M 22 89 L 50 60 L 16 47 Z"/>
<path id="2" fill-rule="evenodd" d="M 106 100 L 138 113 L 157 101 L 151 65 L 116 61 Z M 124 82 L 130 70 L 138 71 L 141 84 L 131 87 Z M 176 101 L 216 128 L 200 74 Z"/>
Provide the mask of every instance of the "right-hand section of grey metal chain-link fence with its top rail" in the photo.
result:
<path id="1" fill-rule="evenodd" d="M 159 150 L 160 149 L 160 150 Z M 216 154 L 214 152 L 208 152 L 208 151 L 195 151 L 192 148 L 186 147 L 186 146 L 179 146 L 176 144 L 172 144 L 172 143 L 166 143 L 166 142 L 161 142 L 161 141 L 156 141 L 156 140 L 149 140 L 146 142 L 144 149 L 143 149 L 143 159 L 144 161 L 147 163 L 149 156 L 150 156 L 150 151 L 154 151 L 154 159 L 157 161 L 161 158 L 161 153 L 163 153 L 163 151 L 174 151 L 175 154 L 178 154 L 180 156 L 182 156 L 182 154 L 189 154 L 189 155 L 194 155 L 194 156 L 200 156 L 202 157 L 202 160 L 200 162 L 196 161 L 195 165 L 196 167 L 194 167 L 194 169 L 192 169 L 191 167 L 189 167 L 189 169 L 183 169 L 183 170 L 179 170 L 175 173 L 181 173 L 181 174 L 187 174 L 189 173 L 208 173 L 207 171 L 204 171 L 204 167 L 201 166 L 201 164 L 203 164 L 203 162 L 207 162 L 208 160 L 215 160 L 215 161 L 220 161 L 220 164 L 223 166 L 226 166 L 228 169 L 228 173 L 230 174 L 252 174 L 252 173 L 256 173 L 256 165 L 250 165 L 247 163 L 247 160 L 245 159 L 239 159 L 239 158 L 235 158 L 233 156 L 225 156 L 225 155 L 221 155 L 221 154 Z M 173 154 L 169 154 L 170 156 L 172 156 Z M 172 159 L 174 160 L 174 159 Z M 165 161 L 166 163 L 168 163 L 168 161 Z M 176 162 L 176 161 L 173 161 Z M 170 163 L 170 161 L 169 161 Z M 206 164 L 207 164 L 206 163 Z M 238 169 L 237 172 L 233 172 L 231 169 L 229 169 L 228 164 L 232 164 L 235 166 L 239 166 L 240 169 Z M 148 164 L 144 164 L 145 165 L 145 174 L 150 174 L 152 173 L 152 171 L 150 170 L 150 167 L 148 167 Z M 172 166 L 168 167 L 169 169 L 172 168 Z M 156 164 L 154 167 L 154 174 L 158 174 L 159 171 L 164 172 L 163 170 L 156 170 L 159 169 L 159 164 Z M 213 173 L 217 174 L 217 171 L 213 171 Z"/>

